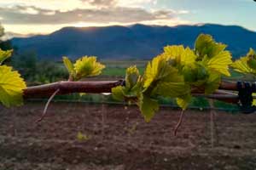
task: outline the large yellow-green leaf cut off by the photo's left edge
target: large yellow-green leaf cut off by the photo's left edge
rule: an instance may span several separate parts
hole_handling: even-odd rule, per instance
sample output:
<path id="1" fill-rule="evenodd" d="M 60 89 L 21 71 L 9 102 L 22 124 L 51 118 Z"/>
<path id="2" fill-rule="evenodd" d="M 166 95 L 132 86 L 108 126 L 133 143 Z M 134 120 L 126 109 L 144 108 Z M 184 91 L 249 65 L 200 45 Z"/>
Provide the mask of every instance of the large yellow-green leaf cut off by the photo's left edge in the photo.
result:
<path id="1" fill-rule="evenodd" d="M 0 66 L 0 101 L 6 107 L 19 106 L 23 104 L 23 90 L 26 83 L 17 71 L 12 67 Z"/>

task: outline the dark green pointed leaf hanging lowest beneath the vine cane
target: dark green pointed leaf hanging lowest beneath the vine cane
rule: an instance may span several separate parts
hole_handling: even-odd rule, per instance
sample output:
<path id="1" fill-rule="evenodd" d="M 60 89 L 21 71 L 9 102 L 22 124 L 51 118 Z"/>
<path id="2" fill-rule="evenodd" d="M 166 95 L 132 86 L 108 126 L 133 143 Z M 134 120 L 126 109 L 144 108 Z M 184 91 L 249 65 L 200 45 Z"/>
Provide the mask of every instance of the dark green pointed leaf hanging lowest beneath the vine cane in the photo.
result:
<path id="1" fill-rule="evenodd" d="M 159 104 L 156 99 L 151 99 L 146 95 L 141 95 L 137 105 L 143 114 L 145 122 L 150 122 L 156 111 L 159 110 Z"/>

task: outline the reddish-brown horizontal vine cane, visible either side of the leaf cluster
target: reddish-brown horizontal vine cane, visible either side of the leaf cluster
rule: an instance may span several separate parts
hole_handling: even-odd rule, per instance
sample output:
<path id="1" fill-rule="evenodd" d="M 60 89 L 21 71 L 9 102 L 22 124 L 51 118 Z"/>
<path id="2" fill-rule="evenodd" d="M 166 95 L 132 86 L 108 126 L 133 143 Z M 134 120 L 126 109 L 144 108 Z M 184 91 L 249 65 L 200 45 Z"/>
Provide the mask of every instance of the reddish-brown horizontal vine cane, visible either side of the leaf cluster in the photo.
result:
<path id="1" fill-rule="evenodd" d="M 119 81 L 92 81 L 92 82 L 53 82 L 49 84 L 28 87 L 24 90 L 24 97 L 37 98 L 49 97 L 59 89 L 58 94 L 73 94 L 73 93 L 88 93 L 88 94 L 102 94 L 111 93 L 111 88 L 123 86 L 124 80 Z M 237 103 L 238 95 L 230 93 L 229 91 L 237 91 L 236 82 L 221 82 L 220 86 L 214 94 L 206 95 L 204 90 L 200 88 L 193 88 L 192 94 L 195 97 L 206 97 L 209 99 L 218 99 L 228 103 Z"/>

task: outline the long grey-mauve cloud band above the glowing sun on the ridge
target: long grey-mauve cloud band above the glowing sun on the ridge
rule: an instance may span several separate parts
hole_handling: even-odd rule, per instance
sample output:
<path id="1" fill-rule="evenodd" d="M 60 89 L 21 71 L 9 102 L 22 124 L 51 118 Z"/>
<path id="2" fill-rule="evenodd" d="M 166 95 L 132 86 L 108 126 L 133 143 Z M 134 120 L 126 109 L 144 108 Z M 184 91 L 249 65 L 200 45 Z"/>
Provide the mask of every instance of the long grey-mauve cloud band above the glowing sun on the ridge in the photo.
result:
<path id="1" fill-rule="evenodd" d="M 96 2 L 97 1 L 97 2 Z M 102 0 L 94 0 L 99 3 Z M 4 24 L 58 25 L 79 22 L 93 23 L 131 23 L 153 20 L 172 20 L 177 13 L 173 10 L 148 11 L 143 8 L 77 8 L 69 11 L 48 10 L 33 6 L 15 6 L 0 8 L 0 17 Z"/>

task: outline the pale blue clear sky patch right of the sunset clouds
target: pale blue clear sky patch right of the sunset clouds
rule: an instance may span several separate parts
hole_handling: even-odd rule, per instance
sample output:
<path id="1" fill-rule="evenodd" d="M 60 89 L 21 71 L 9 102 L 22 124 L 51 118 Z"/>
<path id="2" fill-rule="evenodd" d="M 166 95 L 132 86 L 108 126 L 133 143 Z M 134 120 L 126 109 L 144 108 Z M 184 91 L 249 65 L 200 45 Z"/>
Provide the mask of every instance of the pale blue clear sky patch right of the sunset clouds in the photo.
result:
<path id="1" fill-rule="evenodd" d="M 240 25 L 256 31 L 256 3 L 253 0 L 159 0 L 157 8 L 188 10 L 180 16 L 193 23 Z"/>

